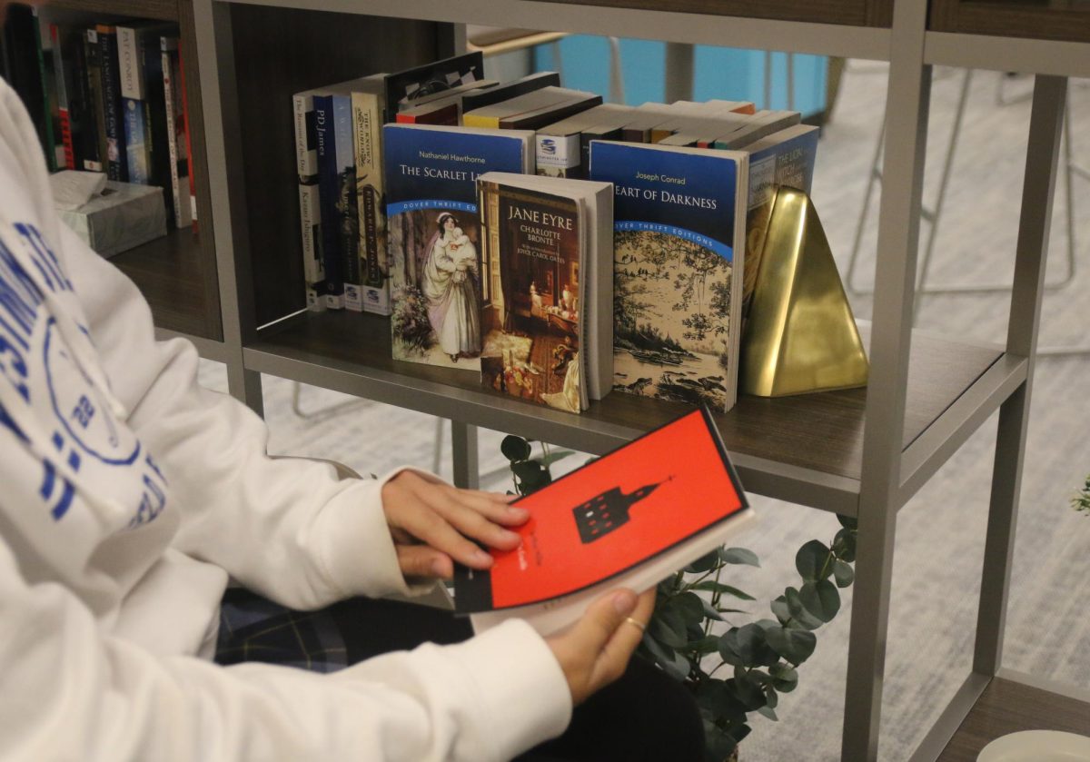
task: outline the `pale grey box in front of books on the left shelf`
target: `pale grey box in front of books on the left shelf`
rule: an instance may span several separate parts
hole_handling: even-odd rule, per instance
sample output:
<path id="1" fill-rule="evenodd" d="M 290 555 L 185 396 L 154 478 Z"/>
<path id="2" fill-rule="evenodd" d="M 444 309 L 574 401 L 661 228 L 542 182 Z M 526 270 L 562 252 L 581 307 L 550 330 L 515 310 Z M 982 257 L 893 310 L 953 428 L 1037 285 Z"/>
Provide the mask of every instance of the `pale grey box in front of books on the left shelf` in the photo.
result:
<path id="1" fill-rule="evenodd" d="M 107 181 L 95 195 L 75 209 L 57 214 L 88 246 L 105 257 L 167 234 L 167 207 L 162 189 Z"/>

